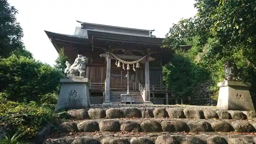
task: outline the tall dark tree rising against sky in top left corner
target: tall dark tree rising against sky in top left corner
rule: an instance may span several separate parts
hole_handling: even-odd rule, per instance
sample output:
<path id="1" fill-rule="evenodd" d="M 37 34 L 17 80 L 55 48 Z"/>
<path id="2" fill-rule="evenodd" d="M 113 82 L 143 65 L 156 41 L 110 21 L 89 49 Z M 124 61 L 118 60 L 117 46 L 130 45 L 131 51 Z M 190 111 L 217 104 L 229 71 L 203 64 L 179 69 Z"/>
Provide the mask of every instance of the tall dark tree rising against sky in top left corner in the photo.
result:
<path id="1" fill-rule="evenodd" d="M 8 57 L 14 50 L 22 50 L 23 31 L 15 15 L 18 11 L 7 0 L 0 0 L 0 56 Z"/>

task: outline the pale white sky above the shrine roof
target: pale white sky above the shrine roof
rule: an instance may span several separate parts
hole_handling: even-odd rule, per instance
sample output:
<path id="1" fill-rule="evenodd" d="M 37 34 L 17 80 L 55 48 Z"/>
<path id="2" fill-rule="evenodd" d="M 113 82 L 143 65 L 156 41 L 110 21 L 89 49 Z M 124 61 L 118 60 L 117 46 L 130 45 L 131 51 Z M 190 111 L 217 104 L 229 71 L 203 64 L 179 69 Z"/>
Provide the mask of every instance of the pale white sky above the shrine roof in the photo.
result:
<path id="1" fill-rule="evenodd" d="M 58 53 L 44 30 L 74 34 L 76 20 L 135 29 L 155 29 L 164 38 L 173 23 L 196 15 L 194 0 L 8 0 L 19 14 L 23 42 L 36 60 L 55 64 Z"/>

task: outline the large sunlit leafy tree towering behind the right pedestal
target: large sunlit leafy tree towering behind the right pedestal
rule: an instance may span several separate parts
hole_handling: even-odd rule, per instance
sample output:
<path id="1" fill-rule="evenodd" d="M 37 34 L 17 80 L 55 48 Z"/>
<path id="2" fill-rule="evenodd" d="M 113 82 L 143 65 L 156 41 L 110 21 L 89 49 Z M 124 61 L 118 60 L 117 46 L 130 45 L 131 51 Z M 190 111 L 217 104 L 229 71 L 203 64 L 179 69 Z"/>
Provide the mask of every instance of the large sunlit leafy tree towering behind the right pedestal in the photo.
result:
<path id="1" fill-rule="evenodd" d="M 238 67 L 244 69 L 244 80 L 251 82 L 252 87 L 256 83 L 256 2 L 255 0 L 196 0 L 194 4 L 197 14 L 193 18 L 181 19 L 173 24 L 169 33 L 163 40 L 164 48 L 176 50 L 179 45 L 193 45 L 186 54 L 176 51 L 171 61 L 174 65 L 165 69 L 170 72 L 166 75 L 173 91 L 187 91 L 199 83 L 195 75 L 208 75 L 216 84 L 211 90 L 218 92 L 217 83 L 223 80 L 223 61 L 233 59 Z M 187 60 L 180 60 L 184 57 Z M 179 61 L 179 62 L 176 62 Z M 192 67 L 199 71 L 181 72 L 187 69 L 189 61 Z M 178 65 L 177 67 L 175 67 Z M 183 67 L 179 67 L 183 65 Z M 194 68 L 195 69 L 195 68 Z M 205 71 L 201 71 L 204 69 Z M 183 75 L 190 75 L 183 78 Z M 176 81 L 172 81 L 179 77 Z M 188 83 L 189 82 L 189 83 Z M 174 87 L 177 84 L 180 87 Z M 251 89 L 252 95 L 256 90 Z"/>

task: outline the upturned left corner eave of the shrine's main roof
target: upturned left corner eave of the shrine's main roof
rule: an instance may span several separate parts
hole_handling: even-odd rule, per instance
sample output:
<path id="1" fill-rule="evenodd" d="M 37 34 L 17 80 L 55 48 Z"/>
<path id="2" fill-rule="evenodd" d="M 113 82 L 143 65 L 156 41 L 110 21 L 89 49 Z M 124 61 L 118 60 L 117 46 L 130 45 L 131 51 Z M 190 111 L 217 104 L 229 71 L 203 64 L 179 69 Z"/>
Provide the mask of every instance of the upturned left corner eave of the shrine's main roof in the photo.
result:
<path id="1" fill-rule="evenodd" d="M 54 48 L 59 52 L 59 48 L 57 48 L 57 42 L 56 41 L 65 41 L 69 43 L 83 43 L 83 44 L 88 44 L 89 39 L 82 38 L 76 35 L 68 35 L 68 34 L 59 34 L 59 33 L 53 33 L 50 31 L 45 30 L 46 35 L 52 42 Z"/>

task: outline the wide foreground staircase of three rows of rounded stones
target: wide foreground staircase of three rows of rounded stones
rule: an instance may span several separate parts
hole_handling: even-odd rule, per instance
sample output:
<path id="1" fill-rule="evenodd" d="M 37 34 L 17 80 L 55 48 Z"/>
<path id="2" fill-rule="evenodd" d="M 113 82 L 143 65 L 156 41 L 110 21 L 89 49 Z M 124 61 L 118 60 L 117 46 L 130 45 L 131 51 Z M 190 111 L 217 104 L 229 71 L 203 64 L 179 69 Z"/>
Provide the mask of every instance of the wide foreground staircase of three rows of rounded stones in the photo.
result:
<path id="1" fill-rule="evenodd" d="M 44 144 L 255 144 L 255 114 L 206 106 L 91 105 Z M 39 143 L 38 143 L 39 144 Z"/>

